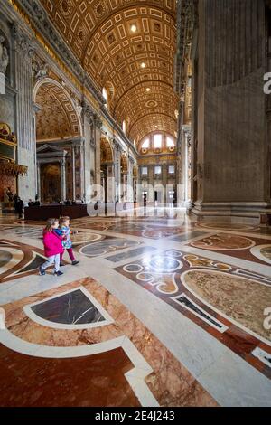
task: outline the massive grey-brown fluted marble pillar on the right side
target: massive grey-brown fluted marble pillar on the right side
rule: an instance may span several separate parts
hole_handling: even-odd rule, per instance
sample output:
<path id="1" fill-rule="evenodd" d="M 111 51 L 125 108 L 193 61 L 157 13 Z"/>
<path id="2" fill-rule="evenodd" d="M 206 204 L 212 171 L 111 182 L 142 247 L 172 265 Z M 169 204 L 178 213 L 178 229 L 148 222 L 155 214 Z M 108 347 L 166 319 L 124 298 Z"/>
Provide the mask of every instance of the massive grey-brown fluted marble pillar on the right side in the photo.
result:
<path id="1" fill-rule="evenodd" d="M 192 113 L 198 215 L 255 212 L 256 217 L 271 205 L 265 27 L 264 0 L 199 2 Z"/>

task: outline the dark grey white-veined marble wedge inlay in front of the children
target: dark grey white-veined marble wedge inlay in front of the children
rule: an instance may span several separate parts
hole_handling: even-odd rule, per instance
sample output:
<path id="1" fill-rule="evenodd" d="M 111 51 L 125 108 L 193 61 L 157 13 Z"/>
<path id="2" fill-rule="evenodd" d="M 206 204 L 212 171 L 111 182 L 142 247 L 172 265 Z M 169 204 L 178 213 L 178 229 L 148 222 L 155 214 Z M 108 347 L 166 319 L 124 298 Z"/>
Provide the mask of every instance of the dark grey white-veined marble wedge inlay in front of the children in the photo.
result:
<path id="1" fill-rule="evenodd" d="M 80 289 L 31 308 L 33 313 L 42 319 L 65 325 L 85 325 L 106 320 Z"/>

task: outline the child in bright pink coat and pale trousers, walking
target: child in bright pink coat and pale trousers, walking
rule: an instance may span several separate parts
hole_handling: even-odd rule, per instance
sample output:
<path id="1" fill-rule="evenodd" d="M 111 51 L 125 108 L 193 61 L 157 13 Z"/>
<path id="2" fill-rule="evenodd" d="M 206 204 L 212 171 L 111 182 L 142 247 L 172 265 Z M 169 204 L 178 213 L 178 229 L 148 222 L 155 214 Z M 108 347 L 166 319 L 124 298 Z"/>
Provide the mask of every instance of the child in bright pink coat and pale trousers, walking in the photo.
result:
<path id="1" fill-rule="evenodd" d="M 63 247 L 61 236 L 57 233 L 59 221 L 57 219 L 49 219 L 43 231 L 43 245 L 45 257 L 47 261 L 40 267 L 40 275 L 45 275 L 45 269 L 54 264 L 54 276 L 61 276 L 60 270 L 61 254 Z"/>

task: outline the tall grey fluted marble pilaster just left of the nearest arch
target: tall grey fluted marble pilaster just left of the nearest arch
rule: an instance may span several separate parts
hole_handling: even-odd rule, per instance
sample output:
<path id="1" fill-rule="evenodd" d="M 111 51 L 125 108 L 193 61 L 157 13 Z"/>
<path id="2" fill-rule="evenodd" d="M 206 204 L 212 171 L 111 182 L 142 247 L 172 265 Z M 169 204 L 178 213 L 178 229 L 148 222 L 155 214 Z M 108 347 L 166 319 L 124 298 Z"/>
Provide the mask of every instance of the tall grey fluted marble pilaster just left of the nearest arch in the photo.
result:
<path id="1" fill-rule="evenodd" d="M 16 24 L 13 26 L 13 49 L 16 96 L 16 130 L 18 164 L 28 173 L 18 177 L 18 194 L 23 201 L 34 199 L 37 182 L 35 170 L 35 122 L 33 117 L 33 42 Z"/>

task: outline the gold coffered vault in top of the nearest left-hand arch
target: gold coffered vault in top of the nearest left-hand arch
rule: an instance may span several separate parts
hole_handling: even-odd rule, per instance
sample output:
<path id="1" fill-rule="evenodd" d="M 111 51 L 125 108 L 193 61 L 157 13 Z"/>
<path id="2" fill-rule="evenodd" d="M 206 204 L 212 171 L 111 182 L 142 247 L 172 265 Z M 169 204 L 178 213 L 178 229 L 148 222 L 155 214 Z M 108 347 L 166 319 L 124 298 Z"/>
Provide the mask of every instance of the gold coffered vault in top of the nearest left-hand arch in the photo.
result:
<path id="1" fill-rule="evenodd" d="M 36 114 L 37 140 L 50 141 L 82 137 L 82 123 L 70 94 L 51 78 L 37 81 L 33 103 L 41 108 Z"/>

